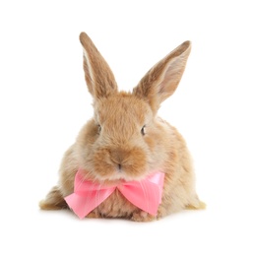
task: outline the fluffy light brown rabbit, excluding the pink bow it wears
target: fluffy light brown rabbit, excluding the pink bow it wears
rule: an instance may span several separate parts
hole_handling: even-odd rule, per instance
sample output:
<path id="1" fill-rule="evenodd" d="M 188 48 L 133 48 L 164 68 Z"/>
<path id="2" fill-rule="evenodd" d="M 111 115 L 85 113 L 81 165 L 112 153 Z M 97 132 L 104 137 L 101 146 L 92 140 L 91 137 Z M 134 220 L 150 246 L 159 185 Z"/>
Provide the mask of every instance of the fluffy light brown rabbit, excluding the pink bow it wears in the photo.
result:
<path id="1" fill-rule="evenodd" d="M 184 209 L 204 209 L 187 145 L 175 127 L 158 117 L 160 104 L 181 80 L 191 42 L 184 41 L 158 61 L 127 93 L 118 92 L 110 67 L 86 32 L 81 32 L 80 41 L 95 115 L 65 153 L 58 184 L 39 202 L 40 209 L 70 209 L 65 197 L 73 193 L 79 169 L 84 179 L 101 184 L 140 180 L 157 169 L 164 173 L 157 215 L 139 209 L 116 189 L 87 218 L 151 222 Z"/>

